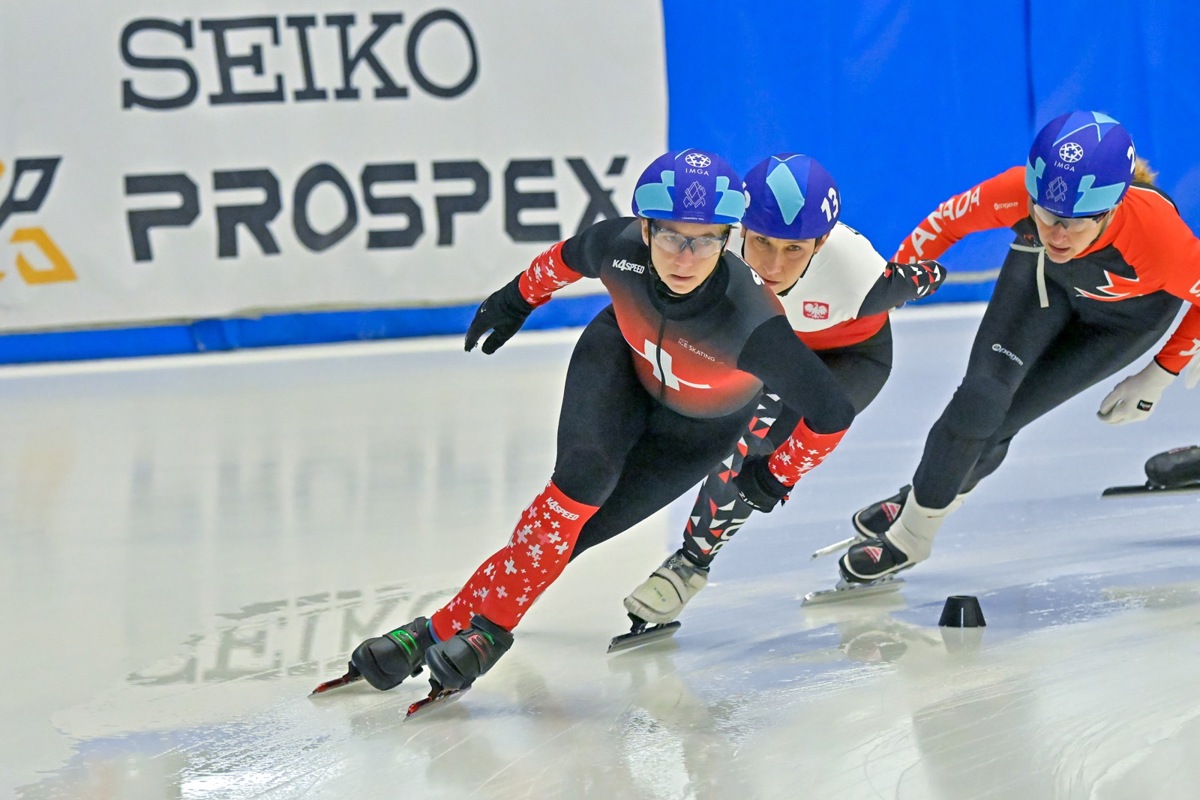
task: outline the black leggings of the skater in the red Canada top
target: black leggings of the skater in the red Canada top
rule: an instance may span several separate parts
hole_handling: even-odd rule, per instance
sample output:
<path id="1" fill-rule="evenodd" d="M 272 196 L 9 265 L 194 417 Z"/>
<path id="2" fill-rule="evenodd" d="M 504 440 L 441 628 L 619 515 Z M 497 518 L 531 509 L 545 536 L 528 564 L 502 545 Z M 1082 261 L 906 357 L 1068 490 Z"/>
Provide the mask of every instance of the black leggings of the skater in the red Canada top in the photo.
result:
<path id="1" fill-rule="evenodd" d="M 971 347 L 967 373 L 925 440 L 913 476 L 922 505 L 943 509 L 991 475 L 1026 425 L 1133 363 L 1166 332 L 1182 301 L 1165 291 L 1103 302 L 1079 296 L 1070 264 L 1009 251 Z"/>

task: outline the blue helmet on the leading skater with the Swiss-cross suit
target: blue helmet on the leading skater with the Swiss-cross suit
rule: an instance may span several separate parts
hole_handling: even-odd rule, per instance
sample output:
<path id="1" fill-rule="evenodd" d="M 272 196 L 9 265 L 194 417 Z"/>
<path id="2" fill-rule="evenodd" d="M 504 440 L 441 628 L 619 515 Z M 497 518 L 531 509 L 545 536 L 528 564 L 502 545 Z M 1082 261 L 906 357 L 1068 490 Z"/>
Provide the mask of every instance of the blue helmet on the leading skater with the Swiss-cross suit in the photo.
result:
<path id="1" fill-rule="evenodd" d="M 662 154 L 634 188 L 634 213 L 649 219 L 732 225 L 745 206 L 742 179 L 724 158 L 703 150 Z"/>

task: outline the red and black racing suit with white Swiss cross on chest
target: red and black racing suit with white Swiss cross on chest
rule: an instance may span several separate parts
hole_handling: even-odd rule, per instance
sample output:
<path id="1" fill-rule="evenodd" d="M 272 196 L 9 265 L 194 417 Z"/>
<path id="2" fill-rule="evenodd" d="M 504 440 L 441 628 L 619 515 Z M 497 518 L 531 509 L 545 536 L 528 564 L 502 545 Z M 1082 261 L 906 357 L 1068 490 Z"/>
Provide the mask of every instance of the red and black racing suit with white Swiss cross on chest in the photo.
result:
<path id="1" fill-rule="evenodd" d="M 538 305 L 581 277 L 599 278 L 612 305 L 571 355 L 551 482 L 509 543 L 433 615 L 439 638 L 473 613 L 511 628 L 572 551 L 626 530 L 700 482 L 742 435 L 763 383 L 800 416 L 770 462 L 785 485 L 818 464 L 853 420 L 836 379 L 736 255 L 724 254 L 690 294 L 670 296 L 641 221 L 610 219 L 550 248 L 518 285 Z"/>

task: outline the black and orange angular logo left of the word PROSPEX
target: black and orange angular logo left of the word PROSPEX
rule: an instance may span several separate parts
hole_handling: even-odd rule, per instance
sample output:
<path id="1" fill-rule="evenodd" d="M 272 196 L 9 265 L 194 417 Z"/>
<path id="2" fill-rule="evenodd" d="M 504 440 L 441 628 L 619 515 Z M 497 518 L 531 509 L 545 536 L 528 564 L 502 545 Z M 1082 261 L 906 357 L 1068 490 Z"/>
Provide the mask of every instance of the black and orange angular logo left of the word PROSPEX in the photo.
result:
<path id="1" fill-rule="evenodd" d="M 54 184 L 54 173 L 59 168 L 59 157 L 17 158 L 13 162 L 12 178 L 4 200 L 0 200 L 0 231 L 5 223 L 17 215 L 36 213 Z M 0 162 L 0 191 L 4 190 L 5 164 Z M 8 236 L 8 243 L 16 245 L 17 273 L 29 284 L 62 283 L 76 279 L 71 261 L 62 253 L 54 239 L 41 225 L 16 228 Z M 35 260 L 26 254 L 36 253 Z M 36 261 L 36 263 L 35 263 Z M 5 272 L 0 270 L 0 279 Z"/>

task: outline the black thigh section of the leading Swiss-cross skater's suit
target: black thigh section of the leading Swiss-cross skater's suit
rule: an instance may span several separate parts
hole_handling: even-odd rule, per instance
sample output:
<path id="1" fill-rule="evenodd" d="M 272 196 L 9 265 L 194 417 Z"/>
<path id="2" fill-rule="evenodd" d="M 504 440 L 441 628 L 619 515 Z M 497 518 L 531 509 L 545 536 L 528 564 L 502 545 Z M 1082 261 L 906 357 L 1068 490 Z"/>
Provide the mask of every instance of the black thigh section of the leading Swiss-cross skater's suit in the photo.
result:
<path id="1" fill-rule="evenodd" d="M 554 485 L 599 506 L 572 558 L 646 519 L 700 482 L 737 443 L 756 402 L 715 419 L 683 416 L 652 397 L 608 307 L 580 336 L 558 419 Z"/>

